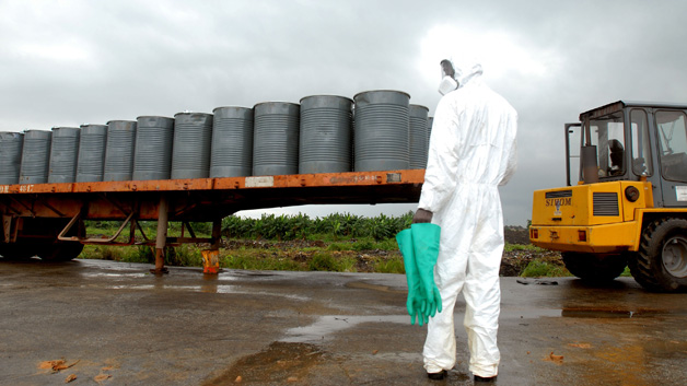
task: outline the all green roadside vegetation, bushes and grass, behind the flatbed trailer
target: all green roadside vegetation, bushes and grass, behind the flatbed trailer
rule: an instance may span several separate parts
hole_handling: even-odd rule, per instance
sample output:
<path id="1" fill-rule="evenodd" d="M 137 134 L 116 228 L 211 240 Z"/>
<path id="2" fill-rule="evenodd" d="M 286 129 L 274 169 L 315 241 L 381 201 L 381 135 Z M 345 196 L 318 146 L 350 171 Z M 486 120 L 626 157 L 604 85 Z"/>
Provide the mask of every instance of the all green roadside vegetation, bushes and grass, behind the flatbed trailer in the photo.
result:
<path id="1" fill-rule="evenodd" d="M 260 219 L 231 215 L 222 221 L 220 266 L 247 270 L 405 273 L 395 235 L 410 226 L 412 214 L 363 218 L 337 213 L 315 219 L 306 214 L 269 214 Z M 112 235 L 120 224 L 116 221 L 88 221 L 88 234 Z M 156 223 L 147 221 L 140 225 L 145 237 L 154 239 Z M 194 222 L 190 225 L 197 237 L 209 237 L 212 233 L 211 223 Z M 181 236 L 182 224 L 170 223 L 167 234 Z M 190 232 L 185 227 L 184 236 L 189 235 Z M 127 237 L 128 229 L 118 241 Z M 137 231 L 137 242 L 142 241 L 143 237 Z M 165 264 L 201 267 L 200 250 L 207 247 L 193 244 L 168 247 Z M 153 264 L 154 250 L 144 245 L 86 245 L 81 258 Z M 529 244 L 506 244 L 504 264 L 511 266 L 505 273 L 511 276 L 570 276 L 560 255 Z"/>

